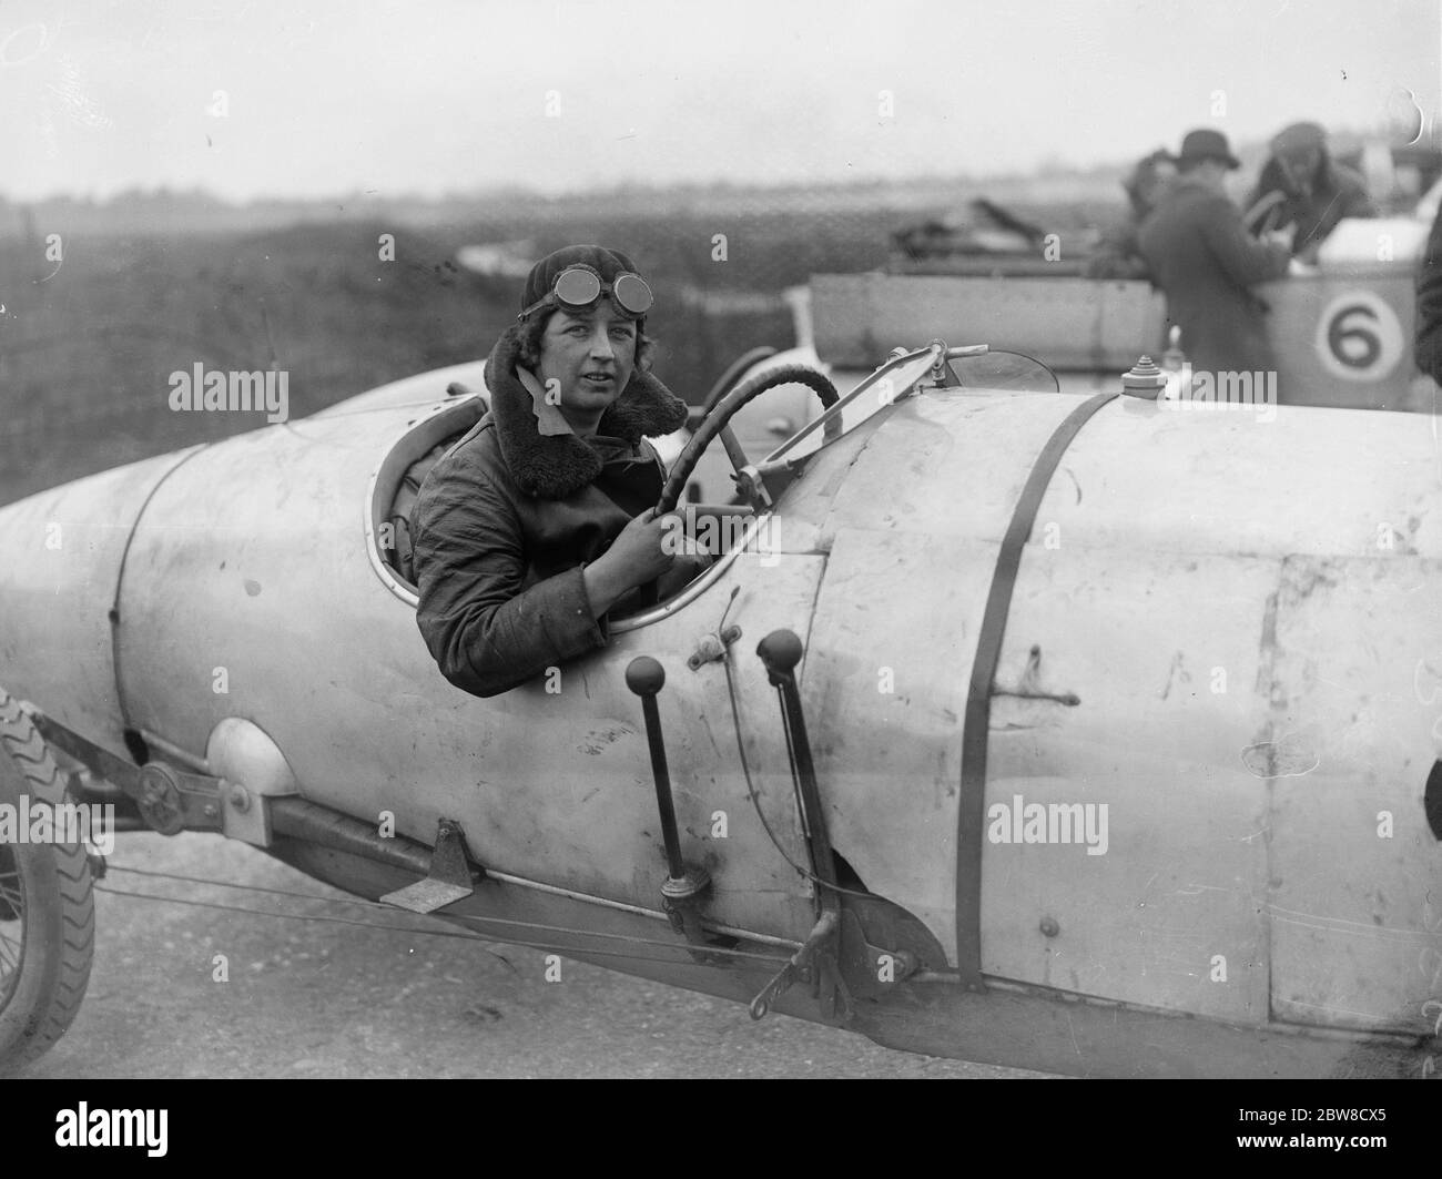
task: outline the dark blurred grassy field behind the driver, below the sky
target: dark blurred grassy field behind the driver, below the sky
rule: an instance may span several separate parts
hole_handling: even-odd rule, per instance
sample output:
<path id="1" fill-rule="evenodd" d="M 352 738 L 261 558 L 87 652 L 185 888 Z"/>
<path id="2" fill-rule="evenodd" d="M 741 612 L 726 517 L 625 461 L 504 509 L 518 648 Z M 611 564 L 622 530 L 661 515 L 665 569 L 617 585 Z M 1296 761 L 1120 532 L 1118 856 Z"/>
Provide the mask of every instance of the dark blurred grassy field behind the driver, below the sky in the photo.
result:
<path id="1" fill-rule="evenodd" d="M 281 369 L 303 417 L 368 388 L 489 352 L 518 282 L 457 270 L 469 242 L 531 238 L 538 252 L 594 241 L 630 252 L 658 295 L 658 375 L 691 402 L 756 344 L 792 343 L 766 297 L 816 271 L 881 265 L 916 221 L 888 208 L 797 213 L 564 215 L 407 229 L 304 223 L 224 233 L 68 233 L 0 239 L 0 503 L 82 474 L 241 430 L 262 415 L 177 414 L 169 375 Z M 59 232 L 63 261 L 45 259 Z M 378 239 L 395 235 L 395 261 Z M 714 238 L 725 235 L 725 261 Z M 747 294 L 718 311 L 684 293 Z"/>

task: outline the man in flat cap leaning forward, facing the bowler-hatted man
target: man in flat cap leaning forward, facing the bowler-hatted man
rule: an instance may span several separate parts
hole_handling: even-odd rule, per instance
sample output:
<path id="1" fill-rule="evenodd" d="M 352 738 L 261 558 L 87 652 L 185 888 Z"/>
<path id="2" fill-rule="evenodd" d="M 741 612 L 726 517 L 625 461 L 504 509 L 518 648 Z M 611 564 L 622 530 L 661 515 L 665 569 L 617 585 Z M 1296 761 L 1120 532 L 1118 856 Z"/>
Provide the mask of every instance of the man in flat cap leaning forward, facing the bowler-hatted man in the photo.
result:
<path id="1" fill-rule="evenodd" d="M 1315 123 L 1293 123 L 1272 140 L 1247 202 L 1253 232 L 1292 228 L 1292 254 L 1315 261 L 1317 249 L 1343 218 L 1374 218 L 1377 206 L 1367 182 L 1337 163 L 1327 150 L 1327 131 Z"/>

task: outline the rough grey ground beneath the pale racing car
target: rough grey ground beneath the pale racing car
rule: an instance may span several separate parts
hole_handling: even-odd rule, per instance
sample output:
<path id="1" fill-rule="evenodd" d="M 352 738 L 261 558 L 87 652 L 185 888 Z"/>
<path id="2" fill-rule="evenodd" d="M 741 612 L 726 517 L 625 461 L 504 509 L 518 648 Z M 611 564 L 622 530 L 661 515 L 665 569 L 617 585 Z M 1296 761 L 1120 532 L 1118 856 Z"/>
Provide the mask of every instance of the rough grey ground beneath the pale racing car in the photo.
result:
<path id="1" fill-rule="evenodd" d="M 118 836 L 112 868 L 339 899 L 244 845 Z M 252 909 L 420 921 L 317 901 L 147 879 L 99 888 Z M 447 937 L 97 894 L 89 993 L 26 1075 L 81 1077 L 1024 1077 L 893 1052 L 720 999 Z M 447 928 L 437 925 L 437 928 Z M 224 954 L 229 982 L 215 982 Z M 503 956 L 503 957 L 502 957 Z"/>

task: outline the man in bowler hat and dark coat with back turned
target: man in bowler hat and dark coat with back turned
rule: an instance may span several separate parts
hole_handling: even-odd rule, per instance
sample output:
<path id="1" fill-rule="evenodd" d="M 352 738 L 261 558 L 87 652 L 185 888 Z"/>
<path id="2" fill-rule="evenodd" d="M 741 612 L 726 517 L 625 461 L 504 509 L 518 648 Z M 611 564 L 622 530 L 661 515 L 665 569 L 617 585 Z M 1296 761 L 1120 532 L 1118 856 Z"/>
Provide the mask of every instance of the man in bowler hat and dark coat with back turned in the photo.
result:
<path id="1" fill-rule="evenodd" d="M 1178 177 L 1142 225 L 1138 245 L 1152 281 L 1167 295 L 1167 326 L 1198 372 L 1266 372 L 1273 368 L 1252 287 L 1288 272 L 1280 235 L 1253 239 L 1227 199 L 1226 177 L 1240 167 L 1220 131 L 1188 131 Z"/>

